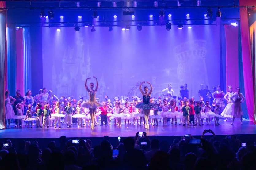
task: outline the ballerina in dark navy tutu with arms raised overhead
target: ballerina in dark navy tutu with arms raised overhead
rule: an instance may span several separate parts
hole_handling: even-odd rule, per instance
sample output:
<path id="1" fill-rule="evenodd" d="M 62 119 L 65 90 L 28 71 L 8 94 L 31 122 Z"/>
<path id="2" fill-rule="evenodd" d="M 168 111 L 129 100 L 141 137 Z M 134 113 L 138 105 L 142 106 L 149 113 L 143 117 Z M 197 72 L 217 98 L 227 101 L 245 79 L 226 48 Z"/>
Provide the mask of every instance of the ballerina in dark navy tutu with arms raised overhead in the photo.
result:
<path id="1" fill-rule="evenodd" d="M 149 129 L 149 124 L 148 124 L 148 119 L 149 119 L 149 113 L 150 113 L 150 109 L 151 108 L 156 108 L 157 105 L 155 103 L 150 103 L 149 99 L 150 99 L 150 95 L 152 93 L 153 87 L 152 85 L 147 81 L 147 84 L 150 85 L 150 91 L 148 92 L 148 87 L 144 86 L 144 92 L 142 91 L 142 85 L 145 83 L 145 81 L 143 81 L 140 86 L 139 86 L 139 90 L 141 92 L 141 94 L 143 95 L 143 103 L 139 103 L 137 104 L 135 107 L 136 108 L 140 108 L 143 109 L 143 112 L 145 114 L 144 118 L 145 118 L 145 128 Z"/>

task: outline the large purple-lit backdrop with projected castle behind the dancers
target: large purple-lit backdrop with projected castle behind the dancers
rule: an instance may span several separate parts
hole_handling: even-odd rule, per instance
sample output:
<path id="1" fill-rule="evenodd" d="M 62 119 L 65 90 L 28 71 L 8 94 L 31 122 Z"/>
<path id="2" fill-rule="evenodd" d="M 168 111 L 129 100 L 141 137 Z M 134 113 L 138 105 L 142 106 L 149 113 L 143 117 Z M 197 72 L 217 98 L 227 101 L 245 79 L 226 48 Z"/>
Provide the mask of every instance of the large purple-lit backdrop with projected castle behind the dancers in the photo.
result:
<path id="1" fill-rule="evenodd" d="M 219 26 L 173 27 L 170 31 L 165 26 L 143 27 L 142 31 L 136 27 L 90 30 L 42 28 L 43 85 L 55 95 L 86 96 L 84 81 L 93 75 L 99 80 L 100 99 L 105 95 L 140 96 L 135 88 L 138 81 L 150 81 L 155 97 L 169 83 L 177 96 L 184 83 L 194 96 L 201 83 L 209 88 L 220 83 Z"/>

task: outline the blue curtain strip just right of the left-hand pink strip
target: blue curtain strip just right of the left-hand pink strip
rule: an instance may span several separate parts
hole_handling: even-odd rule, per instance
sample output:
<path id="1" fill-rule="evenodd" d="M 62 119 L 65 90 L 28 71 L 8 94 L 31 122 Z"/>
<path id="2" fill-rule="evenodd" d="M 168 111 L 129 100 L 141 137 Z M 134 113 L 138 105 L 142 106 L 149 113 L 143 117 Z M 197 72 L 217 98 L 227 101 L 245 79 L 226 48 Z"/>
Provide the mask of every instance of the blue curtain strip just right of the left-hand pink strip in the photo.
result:
<path id="1" fill-rule="evenodd" d="M 24 92 L 31 90 L 31 52 L 29 27 L 23 28 Z"/>

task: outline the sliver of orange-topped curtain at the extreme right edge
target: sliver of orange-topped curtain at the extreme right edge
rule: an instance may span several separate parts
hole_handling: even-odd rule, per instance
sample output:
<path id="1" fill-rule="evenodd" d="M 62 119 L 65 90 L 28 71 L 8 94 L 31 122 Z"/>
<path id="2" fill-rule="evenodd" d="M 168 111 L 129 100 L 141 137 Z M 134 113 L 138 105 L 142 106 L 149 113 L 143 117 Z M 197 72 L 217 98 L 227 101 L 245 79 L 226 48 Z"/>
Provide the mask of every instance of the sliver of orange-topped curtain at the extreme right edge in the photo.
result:
<path id="1" fill-rule="evenodd" d="M 254 111 L 256 110 L 256 21 L 250 26 L 251 54 L 252 54 L 252 73 L 254 87 Z M 256 113 L 254 112 L 254 123 L 256 124 Z"/>

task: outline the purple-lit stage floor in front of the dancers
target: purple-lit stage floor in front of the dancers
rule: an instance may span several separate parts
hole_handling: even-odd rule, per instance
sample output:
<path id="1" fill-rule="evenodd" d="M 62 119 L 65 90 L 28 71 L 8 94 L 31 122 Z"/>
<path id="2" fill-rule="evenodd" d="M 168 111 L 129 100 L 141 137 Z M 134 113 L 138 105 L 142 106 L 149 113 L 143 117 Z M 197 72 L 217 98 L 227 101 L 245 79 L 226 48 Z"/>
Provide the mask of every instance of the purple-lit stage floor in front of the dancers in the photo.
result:
<path id="1" fill-rule="evenodd" d="M 11 125 L 10 129 L 0 130 L 0 138 L 59 138 L 62 135 L 67 136 L 68 138 L 79 138 L 79 137 L 116 137 L 116 136 L 134 136 L 137 131 L 145 131 L 148 136 L 183 136 L 184 134 L 191 134 L 192 136 L 201 135 L 204 129 L 212 129 L 216 135 L 243 135 L 243 134 L 256 134 L 256 125 L 249 121 L 243 121 L 243 125 L 240 124 L 239 120 L 236 120 L 233 125 L 231 121 L 220 121 L 219 126 L 215 126 L 213 122 L 211 125 L 202 126 L 191 126 L 183 127 L 182 125 L 173 125 L 171 126 L 167 122 L 167 126 L 163 126 L 162 123 L 159 123 L 159 126 L 150 125 L 150 129 L 145 130 L 143 126 L 134 126 L 134 125 L 124 125 L 122 127 L 114 126 L 98 126 L 94 130 L 91 130 L 90 127 L 86 126 L 84 128 L 78 128 L 77 125 L 74 127 L 66 128 L 65 125 L 62 125 L 61 128 L 50 127 L 49 129 L 41 128 L 32 128 L 27 129 L 25 125 L 23 128 L 16 129 L 14 124 Z"/>

